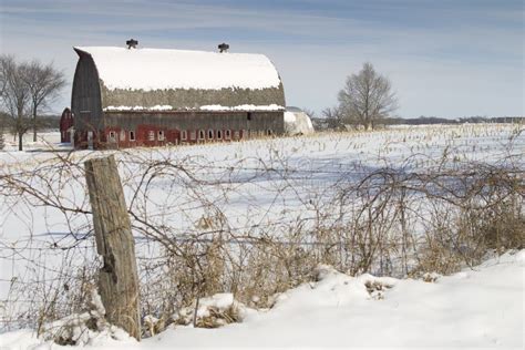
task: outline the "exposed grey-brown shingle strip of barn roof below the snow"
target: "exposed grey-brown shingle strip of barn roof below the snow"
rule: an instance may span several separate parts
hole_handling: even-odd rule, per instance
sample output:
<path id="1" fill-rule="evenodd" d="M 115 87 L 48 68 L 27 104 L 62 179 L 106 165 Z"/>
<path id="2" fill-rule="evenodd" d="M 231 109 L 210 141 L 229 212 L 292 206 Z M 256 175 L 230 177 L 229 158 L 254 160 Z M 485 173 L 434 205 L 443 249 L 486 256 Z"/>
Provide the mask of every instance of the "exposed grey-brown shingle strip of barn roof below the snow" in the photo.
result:
<path id="1" fill-rule="evenodd" d="M 177 109 L 194 109 L 203 105 L 219 104 L 237 106 L 243 104 L 285 106 L 282 84 L 271 89 L 222 89 L 222 90 L 109 90 L 102 82 L 102 106 L 143 106 L 171 105 Z"/>

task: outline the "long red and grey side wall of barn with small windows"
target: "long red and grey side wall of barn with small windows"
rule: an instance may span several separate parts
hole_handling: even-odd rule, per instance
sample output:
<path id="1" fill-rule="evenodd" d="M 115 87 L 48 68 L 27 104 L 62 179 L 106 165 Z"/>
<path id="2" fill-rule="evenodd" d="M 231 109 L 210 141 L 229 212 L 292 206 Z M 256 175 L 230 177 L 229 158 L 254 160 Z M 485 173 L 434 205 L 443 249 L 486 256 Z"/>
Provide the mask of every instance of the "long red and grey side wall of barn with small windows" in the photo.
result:
<path id="1" fill-rule="evenodd" d="M 95 147 L 235 141 L 268 134 L 281 135 L 285 127 L 282 112 L 105 112 L 104 119 L 105 126 L 100 131 L 100 144 Z M 204 133 L 203 138 L 199 137 L 199 131 Z M 130 140 L 131 132 L 135 138 L 133 141 Z M 183 140 L 184 134 L 186 140 Z"/>

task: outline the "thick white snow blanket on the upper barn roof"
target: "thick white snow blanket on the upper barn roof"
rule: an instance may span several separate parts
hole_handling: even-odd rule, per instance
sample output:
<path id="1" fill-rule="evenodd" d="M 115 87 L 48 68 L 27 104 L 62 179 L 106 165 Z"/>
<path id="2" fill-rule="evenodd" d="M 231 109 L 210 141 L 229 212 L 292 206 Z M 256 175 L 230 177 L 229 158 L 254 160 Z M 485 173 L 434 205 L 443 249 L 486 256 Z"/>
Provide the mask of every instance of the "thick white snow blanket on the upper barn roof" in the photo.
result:
<path id="1" fill-rule="evenodd" d="M 109 90 L 267 89 L 279 74 L 262 54 L 111 47 L 74 48 L 93 58 Z"/>

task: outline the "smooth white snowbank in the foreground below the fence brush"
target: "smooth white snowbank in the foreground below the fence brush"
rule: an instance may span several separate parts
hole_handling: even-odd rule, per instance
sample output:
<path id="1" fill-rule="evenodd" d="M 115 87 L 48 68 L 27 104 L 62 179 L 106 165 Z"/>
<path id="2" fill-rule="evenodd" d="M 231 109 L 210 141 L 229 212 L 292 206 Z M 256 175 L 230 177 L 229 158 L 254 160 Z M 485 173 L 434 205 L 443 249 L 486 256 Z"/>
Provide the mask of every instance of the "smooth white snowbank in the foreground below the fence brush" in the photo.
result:
<path id="1" fill-rule="evenodd" d="M 218 329 L 171 326 L 141 343 L 104 333 L 90 348 L 523 349 L 524 268 L 525 250 L 434 282 L 351 277 L 320 266 L 317 281 L 282 294 L 270 310 L 248 312 L 241 323 Z M 214 301 L 233 302 L 225 295 Z M 50 348 L 29 330 L 1 334 L 0 340 L 6 349 Z"/>

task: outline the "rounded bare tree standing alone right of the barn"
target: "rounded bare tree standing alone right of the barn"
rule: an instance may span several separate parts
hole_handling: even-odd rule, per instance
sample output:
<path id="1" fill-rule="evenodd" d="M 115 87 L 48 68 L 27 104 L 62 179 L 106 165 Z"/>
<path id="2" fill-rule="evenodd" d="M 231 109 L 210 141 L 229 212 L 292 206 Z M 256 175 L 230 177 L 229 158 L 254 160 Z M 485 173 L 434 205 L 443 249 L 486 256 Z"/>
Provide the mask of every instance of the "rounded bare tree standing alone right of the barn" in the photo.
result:
<path id="1" fill-rule="evenodd" d="M 398 109 L 398 100 L 388 78 L 379 74 L 369 62 L 358 74 L 347 78 L 339 92 L 339 111 L 344 119 L 362 124 L 367 130 Z"/>

